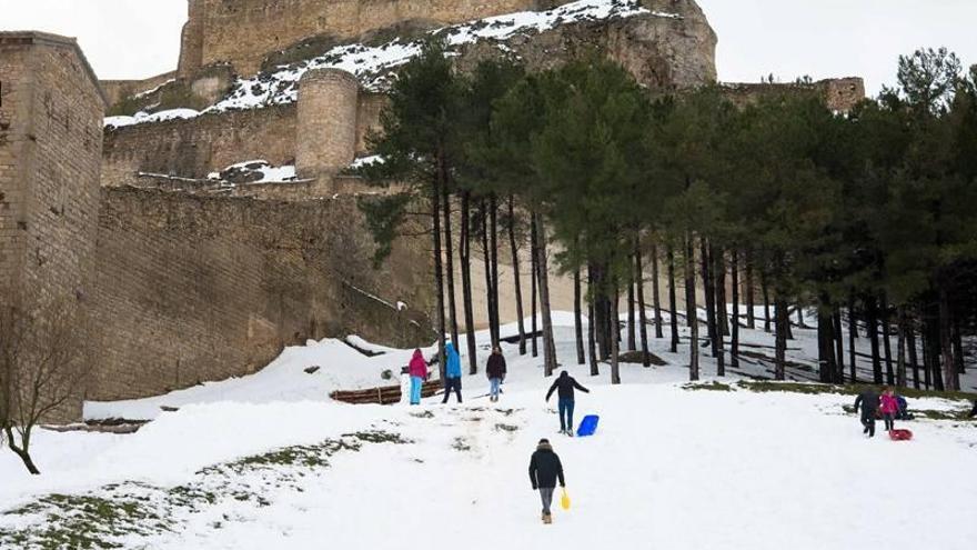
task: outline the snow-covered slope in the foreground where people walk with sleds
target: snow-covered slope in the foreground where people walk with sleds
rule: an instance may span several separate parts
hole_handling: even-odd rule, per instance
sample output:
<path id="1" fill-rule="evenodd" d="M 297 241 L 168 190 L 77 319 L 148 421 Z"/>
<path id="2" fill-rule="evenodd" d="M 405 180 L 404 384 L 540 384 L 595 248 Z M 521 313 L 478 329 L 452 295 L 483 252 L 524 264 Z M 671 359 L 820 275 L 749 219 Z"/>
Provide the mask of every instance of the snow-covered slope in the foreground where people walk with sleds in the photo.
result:
<path id="1" fill-rule="evenodd" d="M 484 397 L 487 382 L 479 374 L 465 378 L 463 406 L 432 398 L 420 407 L 380 407 L 335 403 L 326 393 L 389 383 L 381 374 L 399 372 L 410 350 L 351 339 L 380 352 L 366 357 L 338 340 L 310 342 L 251 377 L 88 403 L 90 418 L 155 420 L 129 436 L 42 431 L 34 442 L 41 477 L 0 453 L 0 510 L 32 503 L 0 514 L 0 547 L 16 540 L 3 532 L 27 540 L 77 536 L 79 524 L 100 521 L 117 534 L 89 527 L 97 540 L 153 549 L 973 546 L 973 422 L 915 420 L 910 442 L 883 433 L 866 440 L 843 410 L 850 396 L 753 392 L 735 383 L 731 391 L 694 391 L 685 382 L 685 351 L 669 353 L 653 330 L 654 352 L 668 364 L 623 364 L 624 384 L 612 387 L 607 364 L 596 378 L 573 364 L 568 321 L 556 318 L 557 353 L 562 368 L 592 389 L 577 396 L 576 419 L 601 416 L 593 438 L 556 433 L 542 360 L 518 357 L 515 346 L 504 346 L 510 374 L 498 403 Z M 513 332 L 510 326 L 503 334 Z M 809 362 L 815 332 L 797 328 L 795 336 L 792 359 Z M 485 340 L 480 334 L 482 356 Z M 744 342 L 770 339 L 744 331 Z M 320 370 L 309 374 L 308 367 Z M 766 367 L 745 364 L 742 372 L 762 376 Z M 708 357 L 703 373 L 714 380 Z M 910 401 L 916 409 L 963 407 Z M 409 442 L 384 442 L 393 434 Z M 540 523 L 526 473 L 541 437 L 554 441 L 573 499 L 548 527 Z M 114 516 L 112 503 L 121 510 Z M 72 523 L 72 514 L 84 521 Z"/>

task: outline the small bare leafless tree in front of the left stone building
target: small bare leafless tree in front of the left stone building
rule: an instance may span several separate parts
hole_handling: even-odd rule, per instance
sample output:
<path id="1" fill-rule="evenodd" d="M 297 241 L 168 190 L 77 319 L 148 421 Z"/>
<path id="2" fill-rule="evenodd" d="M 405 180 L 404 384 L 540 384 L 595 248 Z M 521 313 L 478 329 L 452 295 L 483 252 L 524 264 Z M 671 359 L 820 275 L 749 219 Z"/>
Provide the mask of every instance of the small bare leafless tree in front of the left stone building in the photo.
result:
<path id="1" fill-rule="evenodd" d="M 40 473 L 30 454 L 34 428 L 64 419 L 91 364 L 78 310 L 69 300 L 34 309 L 0 303 L 0 446 L 33 474 Z"/>

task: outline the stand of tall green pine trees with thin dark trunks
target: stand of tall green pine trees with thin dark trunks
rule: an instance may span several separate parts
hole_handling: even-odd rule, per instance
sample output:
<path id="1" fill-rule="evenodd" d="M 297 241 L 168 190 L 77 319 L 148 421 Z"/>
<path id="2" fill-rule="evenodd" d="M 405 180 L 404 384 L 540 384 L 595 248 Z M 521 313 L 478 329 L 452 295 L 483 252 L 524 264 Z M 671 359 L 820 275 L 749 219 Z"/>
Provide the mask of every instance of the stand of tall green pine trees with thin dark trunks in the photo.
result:
<path id="1" fill-rule="evenodd" d="M 959 389 L 977 324 L 977 68 L 965 73 L 944 49 L 900 57 L 898 88 L 835 113 L 806 81 L 737 106 L 718 86 L 643 88 L 597 54 L 538 73 L 506 61 L 461 72 L 432 42 L 400 71 L 381 127 L 371 146 L 383 162 L 359 171 L 391 192 L 361 208 L 377 261 L 411 223 L 430 234 L 442 366 L 463 321 L 477 370 L 471 267 L 482 261 L 493 343 L 498 286 L 514 284 L 520 353 L 542 348 L 546 376 L 554 270 L 574 280 L 577 361 L 590 357 L 593 374 L 610 361 L 614 383 L 621 342 L 647 366 L 649 327 L 677 351 L 679 322 L 692 380 L 701 350 L 719 376 L 727 359 L 737 368 L 739 331 L 759 323 L 776 334 L 783 380 L 792 317 L 803 327 L 816 311 L 820 381 Z M 498 279 L 500 253 L 525 269 L 526 240 L 530 289 Z M 857 368 L 862 337 L 870 377 Z"/>

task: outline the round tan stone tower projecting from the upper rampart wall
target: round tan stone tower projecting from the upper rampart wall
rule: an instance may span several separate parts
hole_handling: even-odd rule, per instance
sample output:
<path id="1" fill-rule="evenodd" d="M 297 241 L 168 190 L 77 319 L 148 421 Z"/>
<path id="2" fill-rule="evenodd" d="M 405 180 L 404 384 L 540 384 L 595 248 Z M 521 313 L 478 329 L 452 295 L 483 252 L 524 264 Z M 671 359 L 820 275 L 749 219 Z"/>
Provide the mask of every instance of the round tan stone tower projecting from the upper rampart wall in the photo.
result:
<path id="1" fill-rule="evenodd" d="M 340 69 L 315 69 L 299 82 L 295 168 L 299 178 L 332 176 L 356 154 L 360 82 Z"/>

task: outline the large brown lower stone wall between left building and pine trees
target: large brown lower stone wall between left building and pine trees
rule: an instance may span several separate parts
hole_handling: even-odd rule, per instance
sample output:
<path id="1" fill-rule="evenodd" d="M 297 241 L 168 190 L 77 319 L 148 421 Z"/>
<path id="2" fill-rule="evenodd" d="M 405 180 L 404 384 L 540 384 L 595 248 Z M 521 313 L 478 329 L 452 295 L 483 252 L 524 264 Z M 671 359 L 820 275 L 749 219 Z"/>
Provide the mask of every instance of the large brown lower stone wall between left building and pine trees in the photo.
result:
<path id="1" fill-rule="evenodd" d="M 103 189 L 92 298 L 100 357 L 88 398 L 246 374 L 309 338 L 430 343 L 430 321 L 416 313 L 430 303 L 424 250 L 403 240 L 373 270 L 354 198 Z M 411 308 L 399 312 L 396 301 Z"/>

